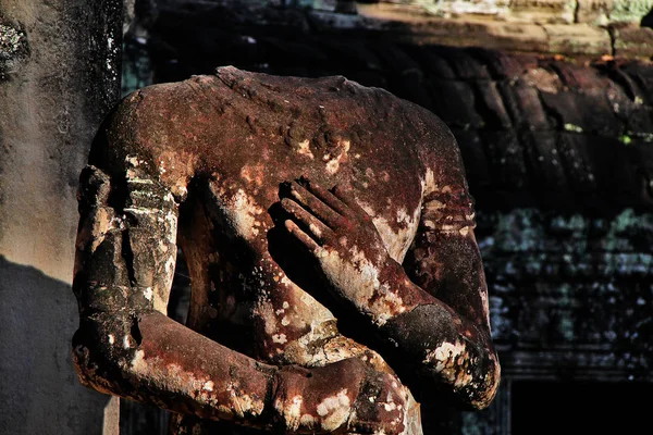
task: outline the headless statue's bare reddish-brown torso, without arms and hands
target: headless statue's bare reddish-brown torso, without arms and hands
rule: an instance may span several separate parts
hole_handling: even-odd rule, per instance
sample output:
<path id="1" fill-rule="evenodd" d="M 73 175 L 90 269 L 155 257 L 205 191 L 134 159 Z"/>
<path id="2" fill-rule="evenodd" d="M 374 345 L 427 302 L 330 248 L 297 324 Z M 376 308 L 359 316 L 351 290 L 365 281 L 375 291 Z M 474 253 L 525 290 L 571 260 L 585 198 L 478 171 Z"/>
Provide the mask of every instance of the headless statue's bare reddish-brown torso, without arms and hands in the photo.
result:
<path id="1" fill-rule="evenodd" d="M 329 351 L 307 346 L 333 334 L 333 314 L 303 288 L 310 283 L 286 274 L 296 261 L 284 259 L 270 215 L 280 185 L 304 175 L 348 187 L 401 263 L 428 183 L 418 149 L 427 126 L 380 89 L 286 78 L 227 69 L 146 90 L 134 137 L 164 183 L 188 186 L 180 217 L 188 325 L 261 360 L 319 365 Z"/>

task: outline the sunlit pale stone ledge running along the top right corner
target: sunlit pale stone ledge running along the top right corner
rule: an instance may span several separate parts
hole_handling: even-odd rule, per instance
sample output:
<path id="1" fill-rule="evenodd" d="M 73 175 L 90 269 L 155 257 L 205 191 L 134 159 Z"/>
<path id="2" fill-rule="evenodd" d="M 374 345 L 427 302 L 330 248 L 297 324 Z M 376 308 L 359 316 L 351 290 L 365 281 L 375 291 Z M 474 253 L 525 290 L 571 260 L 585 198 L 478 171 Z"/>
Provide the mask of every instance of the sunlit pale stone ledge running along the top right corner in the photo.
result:
<path id="1" fill-rule="evenodd" d="M 461 2 L 452 4 L 458 3 Z M 482 46 L 507 51 L 611 55 L 624 59 L 650 58 L 653 54 L 653 32 L 639 26 L 643 15 L 639 20 L 627 15 L 627 21 L 579 21 L 578 16 L 586 15 L 578 15 L 580 12 L 567 7 L 567 3 L 576 2 L 531 2 L 540 4 L 532 11 L 519 7 L 520 2 L 514 3 L 516 5 L 510 7 L 514 10 L 494 14 L 430 13 L 430 7 L 422 3 L 358 4 L 359 26 L 385 32 L 394 28 L 398 40 L 415 44 Z M 541 3 L 552 3 L 552 8 L 546 9 L 546 4 Z M 589 5 L 586 10 L 588 9 L 591 10 Z"/>

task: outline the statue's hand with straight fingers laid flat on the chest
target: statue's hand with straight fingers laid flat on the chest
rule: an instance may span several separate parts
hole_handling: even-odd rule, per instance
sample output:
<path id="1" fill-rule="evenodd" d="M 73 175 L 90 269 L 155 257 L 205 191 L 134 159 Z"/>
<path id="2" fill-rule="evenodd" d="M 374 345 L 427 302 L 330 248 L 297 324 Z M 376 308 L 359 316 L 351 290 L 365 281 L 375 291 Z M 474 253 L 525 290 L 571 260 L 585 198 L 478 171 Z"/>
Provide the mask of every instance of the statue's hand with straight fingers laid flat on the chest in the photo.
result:
<path id="1" fill-rule="evenodd" d="M 291 183 L 286 195 L 281 201 L 291 216 L 285 227 L 319 265 L 328 287 L 336 298 L 382 323 L 384 315 L 395 311 L 389 307 L 391 287 L 403 275 L 370 215 L 340 186 L 326 190 L 301 178 Z"/>

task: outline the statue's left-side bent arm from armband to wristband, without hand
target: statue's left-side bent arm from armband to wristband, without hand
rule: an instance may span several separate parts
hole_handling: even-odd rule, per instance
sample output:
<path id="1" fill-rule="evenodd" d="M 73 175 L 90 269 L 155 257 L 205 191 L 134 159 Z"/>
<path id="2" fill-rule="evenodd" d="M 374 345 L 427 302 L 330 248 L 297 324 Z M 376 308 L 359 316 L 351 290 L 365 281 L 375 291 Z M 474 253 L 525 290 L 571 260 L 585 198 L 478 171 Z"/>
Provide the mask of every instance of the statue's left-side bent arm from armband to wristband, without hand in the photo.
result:
<path id="1" fill-rule="evenodd" d="M 173 196 L 134 169 L 122 183 L 115 178 L 95 166 L 81 176 L 73 283 L 79 380 L 173 411 L 263 424 L 275 369 L 165 315 L 176 258 Z"/>

